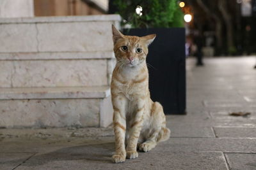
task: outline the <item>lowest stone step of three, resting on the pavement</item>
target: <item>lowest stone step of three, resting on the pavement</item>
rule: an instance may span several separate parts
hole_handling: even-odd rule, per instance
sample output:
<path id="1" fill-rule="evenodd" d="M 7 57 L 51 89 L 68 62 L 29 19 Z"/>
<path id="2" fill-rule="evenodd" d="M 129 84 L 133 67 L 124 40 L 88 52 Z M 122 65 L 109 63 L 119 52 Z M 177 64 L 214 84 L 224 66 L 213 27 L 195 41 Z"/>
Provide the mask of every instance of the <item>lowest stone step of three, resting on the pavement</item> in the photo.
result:
<path id="1" fill-rule="evenodd" d="M 108 127 L 112 117 L 108 86 L 0 89 L 0 127 Z"/>

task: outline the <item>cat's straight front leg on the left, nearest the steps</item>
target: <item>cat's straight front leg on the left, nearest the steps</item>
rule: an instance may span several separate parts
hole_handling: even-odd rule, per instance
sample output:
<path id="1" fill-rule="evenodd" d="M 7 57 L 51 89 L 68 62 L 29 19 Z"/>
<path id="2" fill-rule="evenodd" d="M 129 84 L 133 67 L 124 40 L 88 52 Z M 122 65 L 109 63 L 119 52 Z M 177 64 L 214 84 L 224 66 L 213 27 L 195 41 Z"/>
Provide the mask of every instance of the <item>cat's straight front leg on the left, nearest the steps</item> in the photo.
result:
<path id="1" fill-rule="evenodd" d="M 126 120 L 125 111 L 127 108 L 127 99 L 122 94 L 112 95 L 112 104 L 114 109 L 113 127 L 115 132 L 115 155 L 112 156 L 113 162 L 120 163 L 125 161 L 125 130 Z"/>

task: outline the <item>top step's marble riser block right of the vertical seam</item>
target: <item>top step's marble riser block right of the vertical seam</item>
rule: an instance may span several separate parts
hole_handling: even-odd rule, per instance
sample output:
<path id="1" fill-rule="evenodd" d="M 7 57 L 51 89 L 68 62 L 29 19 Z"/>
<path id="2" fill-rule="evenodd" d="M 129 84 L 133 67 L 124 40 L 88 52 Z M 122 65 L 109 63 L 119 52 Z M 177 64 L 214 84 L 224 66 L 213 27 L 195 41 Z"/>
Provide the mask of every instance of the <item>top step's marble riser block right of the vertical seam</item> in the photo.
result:
<path id="1" fill-rule="evenodd" d="M 111 22 L 42 23 L 37 27 L 40 52 L 113 50 Z"/>

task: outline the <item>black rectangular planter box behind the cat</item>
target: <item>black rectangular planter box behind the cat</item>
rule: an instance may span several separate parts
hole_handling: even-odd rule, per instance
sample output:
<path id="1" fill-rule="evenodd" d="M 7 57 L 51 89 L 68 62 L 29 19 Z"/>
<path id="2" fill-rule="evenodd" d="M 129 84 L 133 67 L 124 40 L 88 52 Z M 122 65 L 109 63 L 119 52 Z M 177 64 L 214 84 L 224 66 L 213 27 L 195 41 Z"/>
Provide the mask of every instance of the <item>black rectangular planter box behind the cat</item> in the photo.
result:
<path id="1" fill-rule="evenodd" d="M 125 35 L 156 34 L 148 48 L 149 89 L 165 114 L 186 114 L 186 56 L 184 28 L 125 29 Z"/>

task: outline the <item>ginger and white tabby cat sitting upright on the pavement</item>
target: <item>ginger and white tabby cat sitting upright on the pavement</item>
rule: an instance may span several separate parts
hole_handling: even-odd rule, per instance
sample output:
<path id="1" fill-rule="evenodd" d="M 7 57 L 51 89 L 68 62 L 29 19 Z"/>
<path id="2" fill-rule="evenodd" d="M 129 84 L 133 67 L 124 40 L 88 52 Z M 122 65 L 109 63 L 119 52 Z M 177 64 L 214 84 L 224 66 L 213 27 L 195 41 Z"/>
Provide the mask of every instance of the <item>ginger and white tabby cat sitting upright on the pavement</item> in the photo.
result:
<path id="1" fill-rule="evenodd" d="M 156 34 L 124 36 L 113 25 L 116 66 L 111 80 L 116 153 L 113 162 L 138 157 L 170 138 L 160 103 L 150 99 L 146 56 Z M 126 146 L 126 148 L 125 148 Z"/>

